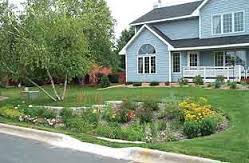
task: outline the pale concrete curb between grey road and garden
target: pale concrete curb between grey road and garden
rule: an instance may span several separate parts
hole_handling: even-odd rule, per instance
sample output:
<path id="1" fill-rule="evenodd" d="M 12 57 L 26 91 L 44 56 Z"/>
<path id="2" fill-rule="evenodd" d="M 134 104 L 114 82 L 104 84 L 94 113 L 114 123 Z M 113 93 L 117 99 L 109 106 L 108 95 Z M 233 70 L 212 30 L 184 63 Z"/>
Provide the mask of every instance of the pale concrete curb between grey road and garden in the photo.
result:
<path id="1" fill-rule="evenodd" d="M 0 123 L 0 133 L 28 138 L 44 142 L 60 148 L 92 153 L 114 159 L 129 160 L 142 163 L 218 163 L 211 159 L 187 156 L 169 152 L 143 148 L 110 148 L 101 145 L 84 143 L 70 136 L 46 131 L 34 130 L 29 128 L 17 127 Z"/>

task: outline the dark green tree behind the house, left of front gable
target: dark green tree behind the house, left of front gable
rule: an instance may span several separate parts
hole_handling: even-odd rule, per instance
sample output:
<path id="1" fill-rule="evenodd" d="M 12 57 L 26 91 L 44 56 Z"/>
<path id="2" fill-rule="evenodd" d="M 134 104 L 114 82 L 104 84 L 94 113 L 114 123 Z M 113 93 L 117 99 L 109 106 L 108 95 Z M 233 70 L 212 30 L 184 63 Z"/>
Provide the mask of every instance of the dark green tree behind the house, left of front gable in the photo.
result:
<path id="1" fill-rule="evenodd" d="M 120 38 L 117 40 L 117 45 L 115 48 L 115 53 L 118 56 L 119 52 L 123 49 L 123 47 L 131 40 L 131 38 L 135 35 L 135 28 L 131 27 L 130 29 L 125 29 L 122 31 Z M 125 56 L 121 56 L 121 65 L 122 69 L 125 69 Z"/>

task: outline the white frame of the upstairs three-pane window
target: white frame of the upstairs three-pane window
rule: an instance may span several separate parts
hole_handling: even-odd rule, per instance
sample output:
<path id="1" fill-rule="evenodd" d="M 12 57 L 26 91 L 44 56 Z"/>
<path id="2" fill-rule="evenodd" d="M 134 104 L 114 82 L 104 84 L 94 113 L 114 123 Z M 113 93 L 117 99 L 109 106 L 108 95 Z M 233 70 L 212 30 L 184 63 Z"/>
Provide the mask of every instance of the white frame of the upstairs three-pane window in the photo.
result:
<path id="1" fill-rule="evenodd" d="M 243 31 L 235 31 L 235 20 L 234 20 L 234 15 L 235 13 L 243 13 Z M 232 14 L 232 32 L 224 33 L 224 15 L 226 14 Z M 214 33 L 214 24 L 213 24 L 213 18 L 214 16 L 221 16 L 221 33 Z M 212 35 L 226 35 L 226 34 L 236 34 L 236 33 L 243 33 L 246 30 L 246 15 L 245 15 L 245 10 L 241 11 L 234 11 L 234 12 L 224 12 L 224 13 L 219 13 L 219 14 L 213 14 L 211 15 L 211 30 L 212 30 Z"/>

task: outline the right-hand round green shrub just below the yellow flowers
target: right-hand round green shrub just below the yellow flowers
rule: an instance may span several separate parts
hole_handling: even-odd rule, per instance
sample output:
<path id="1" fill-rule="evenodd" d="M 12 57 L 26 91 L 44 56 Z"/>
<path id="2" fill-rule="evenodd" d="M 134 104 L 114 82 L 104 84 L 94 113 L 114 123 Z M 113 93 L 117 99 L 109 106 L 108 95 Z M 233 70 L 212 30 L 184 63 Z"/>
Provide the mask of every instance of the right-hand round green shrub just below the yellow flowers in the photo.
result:
<path id="1" fill-rule="evenodd" d="M 217 128 L 217 120 L 214 118 L 205 118 L 199 122 L 201 136 L 208 136 L 215 133 Z"/>

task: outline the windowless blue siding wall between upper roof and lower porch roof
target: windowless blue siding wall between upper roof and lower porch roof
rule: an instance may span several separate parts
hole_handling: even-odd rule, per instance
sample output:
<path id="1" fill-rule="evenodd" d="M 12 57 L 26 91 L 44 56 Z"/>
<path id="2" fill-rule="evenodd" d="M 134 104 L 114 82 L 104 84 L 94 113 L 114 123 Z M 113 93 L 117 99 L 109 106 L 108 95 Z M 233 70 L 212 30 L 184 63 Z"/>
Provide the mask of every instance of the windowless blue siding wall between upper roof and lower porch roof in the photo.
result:
<path id="1" fill-rule="evenodd" d="M 198 38 L 199 19 L 185 19 L 153 24 L 172 40 Z"/>

